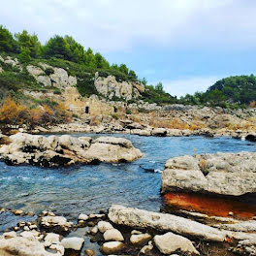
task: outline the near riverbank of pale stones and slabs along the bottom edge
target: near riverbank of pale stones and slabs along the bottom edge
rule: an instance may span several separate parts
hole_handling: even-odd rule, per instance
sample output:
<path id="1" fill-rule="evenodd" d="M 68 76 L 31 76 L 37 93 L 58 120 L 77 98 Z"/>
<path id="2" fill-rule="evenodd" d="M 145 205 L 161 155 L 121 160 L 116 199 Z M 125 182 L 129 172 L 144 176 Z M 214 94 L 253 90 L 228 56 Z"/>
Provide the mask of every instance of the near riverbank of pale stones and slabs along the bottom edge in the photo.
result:
<path id="1" fill-rule="evenodd" d="M 7 211 L 2 208 L 0 216 Z M 15 223 L 0 236 L 0 255 L 255 255 L 256 221 L 215 220 L 218 224 L 207 225 L 188 217 L 116 205 L 96 214 L 80 213 L 73 222 L 43 211 L 31 222 Z"/>

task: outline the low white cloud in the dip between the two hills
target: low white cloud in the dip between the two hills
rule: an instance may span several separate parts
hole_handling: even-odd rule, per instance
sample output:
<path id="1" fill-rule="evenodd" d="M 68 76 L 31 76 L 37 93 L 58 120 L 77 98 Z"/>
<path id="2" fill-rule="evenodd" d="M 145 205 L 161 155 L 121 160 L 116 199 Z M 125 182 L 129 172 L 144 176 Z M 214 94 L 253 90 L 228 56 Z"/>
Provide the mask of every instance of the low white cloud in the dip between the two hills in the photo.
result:
<path id="1" fill-rule="evenodd" d="M 173 96 L 185 96 L 194 94 L 196 91 L 206 91 L 215 81 L 222 79 L 221 76 L 194 77 L 180 80 L 163 80 L 164 89 Z M 156 82 L 152 82 L 155 84 Z"/>

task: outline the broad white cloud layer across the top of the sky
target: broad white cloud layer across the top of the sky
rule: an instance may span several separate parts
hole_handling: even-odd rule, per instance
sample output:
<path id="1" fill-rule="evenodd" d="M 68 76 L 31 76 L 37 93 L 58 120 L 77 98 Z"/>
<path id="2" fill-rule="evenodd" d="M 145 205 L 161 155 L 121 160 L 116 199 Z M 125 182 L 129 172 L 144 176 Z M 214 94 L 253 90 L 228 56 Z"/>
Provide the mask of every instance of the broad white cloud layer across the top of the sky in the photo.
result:
<path id="1" fill-rule="evenodd" d="M 0 0 L 0 6 L 0 22 L 13 32 L 35 31 L 43 42 L 70 34 L 103 51 L 256 45 L 251 0 Z"/>

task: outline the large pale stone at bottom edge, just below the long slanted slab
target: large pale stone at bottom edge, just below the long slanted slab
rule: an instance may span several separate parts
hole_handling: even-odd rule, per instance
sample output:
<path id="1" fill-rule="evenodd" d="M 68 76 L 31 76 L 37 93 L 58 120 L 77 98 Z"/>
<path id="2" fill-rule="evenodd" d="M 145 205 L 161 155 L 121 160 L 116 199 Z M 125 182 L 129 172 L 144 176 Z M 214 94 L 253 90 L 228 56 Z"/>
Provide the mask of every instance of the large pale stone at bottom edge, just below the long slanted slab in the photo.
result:
<path id="1" fill-rule="evenodd" d="M 155 236 L 154 242 L 156 247 L 163 254 L 171 254 L 173 252 L 176 252 L 176 250 L 180 250 L 181 252 L 190 253 L 193 255 L 200 254 L 190 240 L 175 235 L 174 233 L 171 232 L 166 233 L 165 235 L 162 236 Z"/>

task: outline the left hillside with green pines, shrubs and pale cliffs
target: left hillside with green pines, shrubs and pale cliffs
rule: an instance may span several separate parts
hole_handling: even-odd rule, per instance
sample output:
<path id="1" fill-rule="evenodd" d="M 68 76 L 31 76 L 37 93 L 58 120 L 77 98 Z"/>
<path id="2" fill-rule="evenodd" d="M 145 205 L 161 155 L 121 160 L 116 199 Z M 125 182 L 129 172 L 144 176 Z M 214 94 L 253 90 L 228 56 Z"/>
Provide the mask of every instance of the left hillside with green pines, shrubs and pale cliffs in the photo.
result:
<path id="1" fill-rule="evenodd" d="M 111 101 L 144 100 L 170 104 L 176 98 L 163 87 L 147 85 L 125 64 L 110 64 L 101 53 L 84 49 L 71 36 L 54 36 L 45 45 L 26 30 L 13 35 L 0 26 L 0 100 L 10 93 L 24 99 L 23 90 L 60 94 L 66 86 L 76 86 L 82 97 L 97 95 Z M 57 74 L 57 75 L 56 75 Z M 56 76 L 64 76 L 56 86 Z M 65 82 L 70 78 L 71 83 Z"/>

